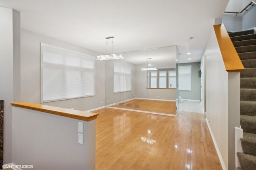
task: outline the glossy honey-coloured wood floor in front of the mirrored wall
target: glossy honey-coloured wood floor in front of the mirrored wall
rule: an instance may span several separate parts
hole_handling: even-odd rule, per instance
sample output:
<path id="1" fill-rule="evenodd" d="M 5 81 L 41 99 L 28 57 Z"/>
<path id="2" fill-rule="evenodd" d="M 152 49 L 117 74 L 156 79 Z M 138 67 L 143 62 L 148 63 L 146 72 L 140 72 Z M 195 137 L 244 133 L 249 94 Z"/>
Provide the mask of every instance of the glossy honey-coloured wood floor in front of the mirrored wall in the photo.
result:
<path id="1" fill-rule="evenodd" d="M 200 113 L 168 117 L 104 108 L 96 119 L 96 170 L 221 170 Z"/>

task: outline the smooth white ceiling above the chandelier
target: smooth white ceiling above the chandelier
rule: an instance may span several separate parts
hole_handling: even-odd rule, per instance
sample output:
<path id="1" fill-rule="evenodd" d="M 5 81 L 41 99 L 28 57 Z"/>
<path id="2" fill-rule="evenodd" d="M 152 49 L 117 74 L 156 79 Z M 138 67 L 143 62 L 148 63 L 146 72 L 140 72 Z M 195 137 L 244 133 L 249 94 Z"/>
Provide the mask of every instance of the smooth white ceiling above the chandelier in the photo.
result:
<path id="1" fill-rule="evenodd" d="M 108 36 L 115 37 L 115 53 L 177 45 L 180 63 L 200 61 L 214 18 L 222 16 L 227 4 L 228 0 L 0 0 L 0 6 L 21 12 L 23 29 L 100 54 L 106 53 Z"/>

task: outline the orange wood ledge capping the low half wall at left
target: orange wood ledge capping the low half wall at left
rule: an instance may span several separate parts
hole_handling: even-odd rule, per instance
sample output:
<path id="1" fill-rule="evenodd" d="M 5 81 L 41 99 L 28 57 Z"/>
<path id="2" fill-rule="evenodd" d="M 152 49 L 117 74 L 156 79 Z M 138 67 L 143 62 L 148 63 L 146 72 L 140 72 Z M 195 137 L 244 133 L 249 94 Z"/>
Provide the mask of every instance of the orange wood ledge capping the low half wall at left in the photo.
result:
<path id="1" fill-rule="evenodd" d="M 72 109 L 65 109 L 61 107 L 54 107 L 54 106 L 48 106 L 48 105 L 40 105 L 35 103 L 17 102 L 17 103 L 11 103 L 11 104 L 12 106 L 15 106 L 15 107 L 22 107 L 25 109 L 41 111 L 41 112 L 59 115 L 63 117 L 70 117 L 73 119 L 78 119 L 78 120 L 87 121 L 87 122 L 96 119 L 98 116 L 97 113 L 77 111 Z"/>

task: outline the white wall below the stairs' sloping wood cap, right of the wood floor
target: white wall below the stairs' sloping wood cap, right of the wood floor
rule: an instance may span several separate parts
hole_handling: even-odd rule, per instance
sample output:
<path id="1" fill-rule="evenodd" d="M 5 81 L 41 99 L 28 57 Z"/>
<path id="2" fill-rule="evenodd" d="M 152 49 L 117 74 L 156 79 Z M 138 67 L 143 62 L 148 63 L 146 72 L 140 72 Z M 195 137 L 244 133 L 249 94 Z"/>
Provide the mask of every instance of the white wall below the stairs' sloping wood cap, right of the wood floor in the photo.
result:
<path id="1" fill-rule="evenodd" d="M 217 151 L 228 169 L 228 73 L 212 28 L 206 49 L 206 112 Z"/>

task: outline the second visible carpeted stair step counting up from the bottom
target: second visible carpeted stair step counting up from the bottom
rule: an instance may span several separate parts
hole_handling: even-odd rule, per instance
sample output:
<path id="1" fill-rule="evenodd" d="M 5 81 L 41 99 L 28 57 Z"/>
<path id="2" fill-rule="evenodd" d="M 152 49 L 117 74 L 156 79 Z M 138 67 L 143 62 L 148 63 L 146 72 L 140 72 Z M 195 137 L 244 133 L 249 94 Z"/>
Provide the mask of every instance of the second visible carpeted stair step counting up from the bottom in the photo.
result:
<path id="1" fill-rule="evenodd" d="M 243 138 L 241 138 L 241 144 L 243 153 L 256 155 L 256 134 L 244 133 Z"/>

